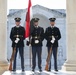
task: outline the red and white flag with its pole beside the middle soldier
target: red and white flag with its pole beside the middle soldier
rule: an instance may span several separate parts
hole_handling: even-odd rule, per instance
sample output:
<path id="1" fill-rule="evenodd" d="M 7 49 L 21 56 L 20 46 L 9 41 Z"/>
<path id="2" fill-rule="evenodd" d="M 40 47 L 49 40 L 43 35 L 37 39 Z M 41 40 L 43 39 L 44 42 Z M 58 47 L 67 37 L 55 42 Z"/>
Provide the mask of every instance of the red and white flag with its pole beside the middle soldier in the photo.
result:
<path id="1" fill-rule="evenodd" d="M 26 28 L 26 32 L 25 32 L 25 38 L 27 41 L 30 42 L 30 21 L 32 19 L 32 3 L 31 3 L 31 0 L 29 0 L 28 2 L 28 8 L 27 8 L 27 13 L 26 13 L 26 25 L 25 25 L 25 28 Z M 29 51 L 30 51 L 30 67 L 31 67 L 31 52 L 32 52 L 32 47 L 29 46 Z"/>

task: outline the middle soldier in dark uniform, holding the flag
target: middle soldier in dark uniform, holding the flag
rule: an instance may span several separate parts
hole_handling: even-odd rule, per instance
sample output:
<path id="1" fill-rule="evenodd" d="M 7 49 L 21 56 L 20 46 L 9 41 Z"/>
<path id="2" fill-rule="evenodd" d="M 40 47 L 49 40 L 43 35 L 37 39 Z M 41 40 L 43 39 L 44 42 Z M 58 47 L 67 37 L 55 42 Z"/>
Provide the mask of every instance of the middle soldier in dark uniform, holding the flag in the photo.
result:
<path id="1" fill-rule="evenodd" d="M 44 29 L 38 26 L 39 18 L 33 18 L 34 28 L 31 32 L 31 45 L 32 45 L 32 71 L 36 67 L 36 55 L 38 57 L 39 71 L 42 71 L 41 67 L 41 55 L 42 55 L 42 41 L 44 40 Z"/>

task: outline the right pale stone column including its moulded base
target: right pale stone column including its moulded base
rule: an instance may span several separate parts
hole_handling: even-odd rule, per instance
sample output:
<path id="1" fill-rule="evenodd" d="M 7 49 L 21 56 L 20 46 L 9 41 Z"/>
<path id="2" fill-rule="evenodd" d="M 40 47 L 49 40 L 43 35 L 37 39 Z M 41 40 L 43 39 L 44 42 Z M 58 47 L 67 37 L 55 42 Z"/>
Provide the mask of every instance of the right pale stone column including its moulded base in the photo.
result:
<path id="1" fill-rule="evenodd" d="M 67 5 L 67 60 L 63 70 L 76 71 L 76 0 L 66 0 Z"/>

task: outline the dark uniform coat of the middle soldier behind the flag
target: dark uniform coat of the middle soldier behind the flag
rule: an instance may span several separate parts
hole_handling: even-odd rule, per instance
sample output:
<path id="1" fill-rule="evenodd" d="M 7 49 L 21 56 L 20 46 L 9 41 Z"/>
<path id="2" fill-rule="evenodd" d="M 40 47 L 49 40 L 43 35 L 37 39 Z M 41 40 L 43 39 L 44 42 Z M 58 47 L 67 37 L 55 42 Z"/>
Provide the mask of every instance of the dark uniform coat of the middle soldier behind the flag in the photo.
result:
<path id="1" fill-rule="evenodd" d="M 42 27 L 38 27 L 38 28 L 34 27 L 31 36 L 32 36 L 32 40 L 31 40 L 32 46 L 42 46 L 42 41 L 44 40 L 44 29 Z M 38 40 L 39 43 L 36 44 L 35 40 Z"/>

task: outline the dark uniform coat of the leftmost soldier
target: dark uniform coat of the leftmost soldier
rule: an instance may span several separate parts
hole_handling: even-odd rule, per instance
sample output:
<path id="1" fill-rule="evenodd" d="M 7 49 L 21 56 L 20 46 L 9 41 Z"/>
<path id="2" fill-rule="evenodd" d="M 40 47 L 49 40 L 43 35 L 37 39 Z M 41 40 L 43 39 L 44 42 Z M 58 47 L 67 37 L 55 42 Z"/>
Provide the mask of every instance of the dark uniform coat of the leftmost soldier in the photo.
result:
<path id="1" fill-rule="evenodd" d="M 17 37 L 18 35 L 18 37 Z M 20 26 L 20 27 L 13 27 L 11 29 L 11 33 L 10 33 L 10 39 L 12 40 L 12 47 L 15 47 L 16 43 L 15 40 L 16 38 L 19 38 L 20 41 L 17 44 L 17 47 L 24 47 L 24 39 L 25 39 L 25 29 L 24 27 Z"/>

